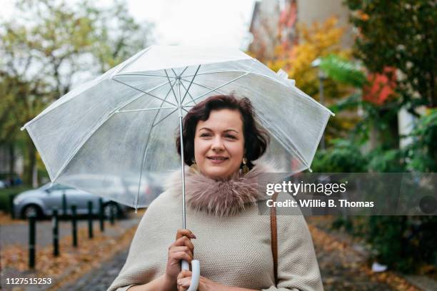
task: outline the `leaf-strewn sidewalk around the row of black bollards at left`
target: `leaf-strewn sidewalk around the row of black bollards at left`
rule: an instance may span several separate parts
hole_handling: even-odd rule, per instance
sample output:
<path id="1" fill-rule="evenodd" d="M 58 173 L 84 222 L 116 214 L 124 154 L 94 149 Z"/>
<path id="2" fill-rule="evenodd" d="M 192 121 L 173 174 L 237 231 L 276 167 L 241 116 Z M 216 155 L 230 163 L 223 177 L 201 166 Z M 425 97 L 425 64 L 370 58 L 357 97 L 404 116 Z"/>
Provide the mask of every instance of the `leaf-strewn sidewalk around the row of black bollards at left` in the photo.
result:
<path id="1" fill-rule="evenodd" d="M 81 221 L 78 224 L 79 247 L 71 246 L 71 223 L 63 223 L 65 230 L 60 239 L 60 256 L 53 257 L 53 247 L 51 246 L 51 223 L 41 221 L 37 225 L 37 242 L 36 247 L 36 269 L 28 269 L 28 251 L 26 244 L 18 243 L 11 238 L 4 238 L 4 233 L 9 231 L 15 233 L 14 238 L 25 240 L 27 242 L 27 225 L 14 225 L 15 231 L 9 228 L 2 228 L 4 233 L 1 234 L 4 247 L 1 249 L 1 272 L 0 284 L 3 289 L 14 291 L 41 291 L 41 290 L 59 290 L 61 286 L 69 282 L 79 282 L 79 278 L 84 274 L 91 274 L 96 277 L 94 270 L 101 267 L 101 262 L 111 260 L 114 255 L 123 252 L 129 247 L 131 239 L 135 233 L 136 226 L 141 220 L 141 211 L 138 214 L 131 213 L 129 219 L 116 220 L 116 224 L 111 226 L 105 222 L 105 231 L 99 230 L 99 221 L 94 223 L 94 238 L 88 238 L 87 222 Z M 2 225 L 4 227 L 4 225 Z M 61 233 L 61 232 L 60 232 Z M 47 238 L 48 237 L 48 238 Z M 6 242 L 17 242 L 14 245 Z M 118 264 L 121 264 L 119 260 Z M 123 259 L 124 260 L 124 259 Z M 118 274 L 119 271 L 116 271 Z M 106 277 L 106 275 L 102 275 Z M 50 285 L 7 285 L 6 279 L 9 278 L 51 278 Z M 113 280 L 113 279 L 112 279 Z M 112 281 L 111 281 L 112 282 Z M 76 287 L 74 289 L 76 290 Z M 89 290 L 94 290 L 91 288 Z"/>

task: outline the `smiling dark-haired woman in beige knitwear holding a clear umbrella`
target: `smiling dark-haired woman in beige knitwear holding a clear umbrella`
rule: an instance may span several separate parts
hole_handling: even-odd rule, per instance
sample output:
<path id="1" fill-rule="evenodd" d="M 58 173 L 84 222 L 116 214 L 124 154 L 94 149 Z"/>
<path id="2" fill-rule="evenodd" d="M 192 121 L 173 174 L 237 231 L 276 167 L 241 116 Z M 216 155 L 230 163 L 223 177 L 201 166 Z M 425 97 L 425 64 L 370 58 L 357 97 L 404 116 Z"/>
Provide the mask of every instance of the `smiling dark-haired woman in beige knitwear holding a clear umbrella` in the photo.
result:
<path id="1" fill-rule="evenodd" d="M 182 216 L 179 172 L 144 214 L 109 291 L 187 290 L 191 272 L 181 271 L 180 262 L 193 257 L 201 262 L 199 291 L 323 290 L 301 215 L 277 216 L 275 278 L 270 217 L 258 215 L 256 207 L 263 200 L 256 178 L 272 170 L 253 163 L 268 136 L 256 126 L 248 98 L 212 96 L 199 103 L 184 118 L 183 141 L 190 230 L 176 230 Z"/>

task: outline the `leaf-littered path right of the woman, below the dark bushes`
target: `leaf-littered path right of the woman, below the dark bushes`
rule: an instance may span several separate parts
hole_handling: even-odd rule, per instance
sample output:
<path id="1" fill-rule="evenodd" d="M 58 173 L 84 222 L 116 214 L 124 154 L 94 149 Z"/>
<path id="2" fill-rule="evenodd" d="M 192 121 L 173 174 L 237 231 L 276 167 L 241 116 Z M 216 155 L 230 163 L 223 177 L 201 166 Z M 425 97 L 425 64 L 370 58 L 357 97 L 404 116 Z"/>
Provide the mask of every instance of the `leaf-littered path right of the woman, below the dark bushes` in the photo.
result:
<path id="1" fill-rule="evenodd" d="M 437 282 L 425 276 L 372 272 L 368 252 L 348 234 L 328 228 L 330 220 L 307 218 L 325 291 L 407 290 L 437 291 Z"/>

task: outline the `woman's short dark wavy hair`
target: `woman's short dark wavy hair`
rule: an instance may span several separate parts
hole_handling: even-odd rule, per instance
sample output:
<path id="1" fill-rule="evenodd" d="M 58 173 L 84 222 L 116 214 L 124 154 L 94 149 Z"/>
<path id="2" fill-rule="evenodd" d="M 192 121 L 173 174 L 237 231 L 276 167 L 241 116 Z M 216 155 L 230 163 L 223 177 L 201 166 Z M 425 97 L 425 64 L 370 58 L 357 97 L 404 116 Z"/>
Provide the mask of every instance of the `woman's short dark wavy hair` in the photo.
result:
<path id="1" fill-rule="evenodd" d="M 253 160 L 258 159 L 266 152 L 270 141 L 268 133 L 256 123 L 256 114 L 248 98 L 237 99 L 231 95 L 216 95 L 206 98 L 197 104 L 184 117 L 182 139 L 184 141 L 184 163 L 191 165 L 194 160 L 194 136 L 199 121 L 206 121 L 213 110 L 238 110 L 243 118 L 244 150 L 248 160 L 248 167 L 253 167 Z M 181 155 L 180 134 L 177 133 L 176 150 Z"/>

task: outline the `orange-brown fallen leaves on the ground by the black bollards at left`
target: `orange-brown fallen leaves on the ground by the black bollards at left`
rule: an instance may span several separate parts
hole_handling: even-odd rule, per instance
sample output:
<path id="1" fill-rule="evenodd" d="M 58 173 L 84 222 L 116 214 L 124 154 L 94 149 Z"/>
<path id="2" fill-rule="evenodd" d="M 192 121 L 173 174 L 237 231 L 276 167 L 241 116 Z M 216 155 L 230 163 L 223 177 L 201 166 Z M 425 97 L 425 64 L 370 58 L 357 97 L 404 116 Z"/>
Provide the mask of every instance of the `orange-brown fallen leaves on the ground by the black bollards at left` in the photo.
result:
<path id="1" fill-rule="evenodd" d="M 136 213 L 140 216 L 144 213 Z M 72 246 L 72 236 L 66 236 L 59 241 L 60 255 L 54 257 L 53 245 L 36 249 L 35 272 L 29 270 L 29 251 L 21 245 L 9 245 L 1 250 L 1 265 L 12 268 L 21 273 L 26 272 L 24 277 L 50 277 L 54 285 L 49 290 L 56 290 L 61 285 L 76 280 L 82 275 L 99 267 L 101 262 L 109 260 L 113 255 L 129 247 L 136 226 L 128 230 L 121 225 L 107 226 L 114 228 L 119 233 L 117 237 L 110 237 L 105 233 L 94 232 L 94 238 L 88 238 L 88 229 L 78 230 L 79 247 Z M 23 277 L 23 275 L 21 275 Z"/>

